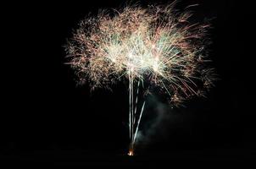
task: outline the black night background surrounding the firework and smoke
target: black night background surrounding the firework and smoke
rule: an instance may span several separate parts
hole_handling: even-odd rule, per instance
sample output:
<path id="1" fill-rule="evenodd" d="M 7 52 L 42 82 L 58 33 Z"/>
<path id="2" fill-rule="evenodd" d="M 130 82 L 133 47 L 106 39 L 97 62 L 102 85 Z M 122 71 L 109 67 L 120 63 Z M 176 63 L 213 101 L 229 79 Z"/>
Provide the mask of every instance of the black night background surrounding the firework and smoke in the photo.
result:
<path id="1" fill-rule="evenodd" d="M 156 1 L 142 5 L 148 3 Z M 92 94 L 88 86 L 76 86 L 63 47 L 86 14 L 120 8 L 125 1 L 8 4 L 2 32 L 7 46 L 2 56 L 1 159 L 84 166 L 253 159 L 253 54 L 248 49 L 253 10 L 231 0 L 183 0 L 177 8 L 195 3 L 193 19 L 212 19 L 209 53 L 220 80 L 208 99 L 190 101 L 175 112 L 179 123 L 167 124 L 170 130 L 155 134 L 158 139 L 133 159 L 125 155 L 125 85 Z"/>

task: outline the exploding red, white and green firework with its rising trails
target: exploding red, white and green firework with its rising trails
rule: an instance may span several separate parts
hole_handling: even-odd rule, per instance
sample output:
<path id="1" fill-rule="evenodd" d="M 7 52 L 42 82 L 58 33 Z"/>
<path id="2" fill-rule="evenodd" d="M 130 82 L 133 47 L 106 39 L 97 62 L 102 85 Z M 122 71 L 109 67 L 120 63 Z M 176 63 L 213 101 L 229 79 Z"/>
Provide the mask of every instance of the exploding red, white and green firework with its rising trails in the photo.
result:
<path id="1" fill-rule="evenodd" d="M 177 12 L 174 3 L 100 12 L 82 20 L 68 41 L 69 64 L 81 84 L 95 90 L 129 82 L 129 155 L 148 94 L 157 90 L 171 106 L 180 106 L 213 85 L 204 50 L 209 25 L 191 24 L 191 16 Z"/>

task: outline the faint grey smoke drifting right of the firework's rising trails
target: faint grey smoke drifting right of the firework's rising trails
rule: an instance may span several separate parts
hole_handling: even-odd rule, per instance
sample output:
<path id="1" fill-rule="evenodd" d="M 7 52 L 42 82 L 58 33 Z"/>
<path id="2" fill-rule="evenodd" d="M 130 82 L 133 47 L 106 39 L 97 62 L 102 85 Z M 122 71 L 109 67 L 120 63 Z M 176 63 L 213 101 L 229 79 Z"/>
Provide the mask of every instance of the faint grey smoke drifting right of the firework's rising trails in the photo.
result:
<path id="1" fill-rule="evenodd" d="M 147 146 L 157 141 L 168 139 L 177 126 L 186 128 L 189 113 L 176 110 L 151 95 L 146 101 L 141 126 L 136 136 L 136 145 Z"/>

